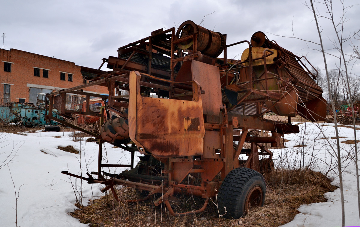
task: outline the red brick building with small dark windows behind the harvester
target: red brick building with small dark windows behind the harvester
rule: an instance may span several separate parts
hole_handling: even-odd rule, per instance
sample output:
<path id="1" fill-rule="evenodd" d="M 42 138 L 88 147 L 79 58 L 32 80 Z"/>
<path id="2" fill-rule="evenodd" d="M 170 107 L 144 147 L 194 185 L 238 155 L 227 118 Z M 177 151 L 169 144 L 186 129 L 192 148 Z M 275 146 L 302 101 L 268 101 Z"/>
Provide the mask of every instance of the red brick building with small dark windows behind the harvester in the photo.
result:
<path id="1" fill-rule="evenodd" d="M 87 75 L 89 70 L 95 74 L 102 72 L 77 66 L 73 62 L 17 49 L 0 49 L 0 61 L 3 66 L 0 67 L 1 103 L 11 101 L 36 104 L 38 93 L 50 93 L 88 82 L 84 80 L 84 71 L 87 71 Z M 91 86 L 84 92 L 108 94 L 104 86 Z M 82 100 L 79 95 L 70 96 L 67 97 L 67 104 L 72 104 L 72 106 Z"/>

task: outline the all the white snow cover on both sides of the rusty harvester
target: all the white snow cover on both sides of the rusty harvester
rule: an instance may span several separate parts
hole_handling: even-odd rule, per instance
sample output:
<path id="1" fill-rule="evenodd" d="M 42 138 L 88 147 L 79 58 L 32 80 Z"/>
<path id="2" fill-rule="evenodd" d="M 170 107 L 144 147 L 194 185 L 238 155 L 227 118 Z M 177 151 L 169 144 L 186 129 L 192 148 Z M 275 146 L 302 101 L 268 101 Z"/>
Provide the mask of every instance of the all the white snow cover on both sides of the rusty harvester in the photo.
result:
<path id="1" fill-rule="evenodd" d="M 296 124 L 296 123 L 294 123 Z M 338 185 L 338 171 L 336 169 L 336 157 L 332 147 L 336 147 L 333 124 L 299 123 L 300 133 L 285 135 L 289 141 L 285 143 L 287 148 L 274 149 L 274 159 L 277 165 L 298 168 L 310 165 L 314 170 L 329 173 Z M 339 128 L 340 141 L 354 139 L 354 131 L 350 128 Z M 360 130 L 357 130 L 360 134 Z M 22 134 L 22 135 L 19 135 Z M 59 150 L 58 146 L 72 145 L 81 150 L 81 169 L 86 176 L 89 172 L 97 170 L 96 143 L 73 141 L 71 132 L 22 132 L 19 134 L 0 134 L 0 165 L 5 155 L 17 151 L 12 163 L 8 166 L 14 180 L 18 198 L 18 226 L 88 226 L 81 224 L 77 219 L 68 215 L 76 209 L 75 194 L 67 175 L 61 171 L 68 170 L 70 173 L 80 174 L 80 155 Z M 26 135 L 23 135 L 26 134 Z M 60 137 L 60 138 L 55 138 Z M 360 137 L 358 137 L 360 138 Z M 306 147 L 294 147 L 305 144 Z M 336 151 L 336 150 L 335 150 Z M 351 157 L 354 156 L 354 144 L 341 143 L 342 165 L 344 170 L 344 194 L 346 226 L 360 226 L 357 212 L 355 164 Z M 139 153 L 138 153 L 139 155 Z M 103 159 L 109 163 L 127 164 L 130 153 L 120 148 L 113 148 L 111 144 L 105 144 Z M 85 164 L 86 163 L 86 164 Z M 8 166 L 0 169 L 0 226 L 15 226 L 16 199 L 13 182 Z M 120 172 L 111 169 L 107 172 Z M 106 171 L 106 170 L 105 170 Z M 75 181 L 75 178 L 71 178 Z M 80 181 L 76 181 L 77 189 Z M 92 186 L 92 190 L 91 187 Z M 19 189 L 20 187 L 20 189 Z M 83 183 L 85 202 L 93 199 L 92 196 L 100 196 L 99 188 L 102 186 Z M 327 193 L 328 202 L 302 205 L 300 214 L 285 227 L 336 227 L 341 226 L 340 190 Z"/>

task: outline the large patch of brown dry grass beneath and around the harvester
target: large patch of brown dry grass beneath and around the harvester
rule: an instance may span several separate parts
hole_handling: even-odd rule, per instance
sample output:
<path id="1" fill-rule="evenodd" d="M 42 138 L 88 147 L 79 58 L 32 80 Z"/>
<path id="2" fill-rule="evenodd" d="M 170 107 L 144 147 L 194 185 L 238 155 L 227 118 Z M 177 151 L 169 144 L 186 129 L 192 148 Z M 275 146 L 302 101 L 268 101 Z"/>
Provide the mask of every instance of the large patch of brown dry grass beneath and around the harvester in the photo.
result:
<path id="1" fill-rule="evenodd" d="M 175 218 L 168 214 L 162 206 L 154 206 L 152 201 L 139 203 L 117 202 L 112 195 L 105 195 L 82 210 L 70 213 L 89 226 L 264 226 L 274 227 L 291 221 L 299 213 L 297 208 L 301 204 L 325 202 L 324 193 L 333 191 L 330 180 L 323 174 L 310 170 L 274 170 L 264 175 L 267 183 L 266 199 L 263 207 L 253 209 L 244 218 L 238 220 L 219 219 L 217 209 L 210 201 L 206 210 L 198 215 Z M 117 190 L 118 196 L 125 200 L 139 197 L 131 188 Z M 177 207 L 177 212 L 198 209 L 203 199 L 197 197 L 180 196 L 183 201 Z M 216 201 L 216 198 L 213 200 Z M 180 209 L 179 209 L 180 208 Z"/>

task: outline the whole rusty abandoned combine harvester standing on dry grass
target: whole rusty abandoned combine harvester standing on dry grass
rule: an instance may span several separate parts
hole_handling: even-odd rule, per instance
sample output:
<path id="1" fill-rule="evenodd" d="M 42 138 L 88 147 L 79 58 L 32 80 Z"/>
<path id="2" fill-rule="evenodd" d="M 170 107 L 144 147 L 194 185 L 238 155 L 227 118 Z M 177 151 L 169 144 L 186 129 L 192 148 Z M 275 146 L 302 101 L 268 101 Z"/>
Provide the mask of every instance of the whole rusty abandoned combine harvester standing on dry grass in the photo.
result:
<path id="1" fill-rule="evenodd" d="M 247 46 L 241 59 L 228 59 L 227 50 L 238 44 Z M 218 58 L 221 53 L 223 58 Z M 291 125 L 297 113 L 311 121 L 325 119 L 323 91 L 301 58 L 263 32 L 256 32 L 251 41 L 226 44 L 226 35 L 192 21 L 177 31 L 153 31 L 119 48 L 118 57 L 104 59 L 112 71 L 89 76 L 89 84 L 48 95 L 50 112 L 54 106 L 69 119 L 73 113 L 103 115 L 89 108 L 66 110 L 66 93 L 87 95 L 88 102 L 90 96 L 109 98 L 107 110 L 118 116 L 101 123 L 100 135 L 48 116 L 99 139 L 98 171 L 91 172 L 96 179 L 89 173 L 88 178 L 63 173 L 104 184 L 102 191 L 112 190 L 117 199 L 116 184 L 149 191 L 145 199 L 162 193 L 154 204 L 165 203 L 175 216 L 202 212 L 217 191 L 220 214 L 239 218 L 264 203 L 265 182 L 259 172 L 273 168 L 273 153 L 265 144 L 282 147 L 283 134 L 299 132 Z M 107 86 L 109 97 L 81 91 L 93 85 Z M 288 116 L 289 122 L 265 120 L 267 112 Z M 249 136 L 254 129 L 270 131 L 271 137 Z M 131 163 L 103 164 L 104 142 L 131 152 Z M 243 148 L 244 142 L 251 148 Z M 137 151 L 144 156 L 134 168 Z M 109 174 L 102 167 L 131 169 Z M 201 209 L 176 213 L 171 200 L 177 193 L 206 200 Z"/>

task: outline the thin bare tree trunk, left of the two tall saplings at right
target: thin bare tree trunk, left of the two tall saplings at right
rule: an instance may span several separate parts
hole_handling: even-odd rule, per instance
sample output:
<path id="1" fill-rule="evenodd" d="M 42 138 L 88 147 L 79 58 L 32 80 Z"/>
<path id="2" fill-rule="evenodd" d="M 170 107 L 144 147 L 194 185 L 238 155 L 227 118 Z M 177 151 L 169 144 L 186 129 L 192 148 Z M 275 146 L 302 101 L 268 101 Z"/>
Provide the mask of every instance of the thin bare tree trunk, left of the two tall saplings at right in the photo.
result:
<path id="1" fill-rule="evenodd" d="M 323 46 L 323 41 L 321 39 L 321 33 L 320 33 L 320 29 L 319 29 L 318 19 L 316 18 L 315 9 L 314 9 L 314 5 L 312 4 L 312 0 L 310 0 L 310 4 L 311 4 L 312 12 L 314 13 L 314 19 L 315 19 L 315 22 L 316 22 L 316 28 L 318 29 L 318 33 L 319 33 L 321 52 L 323 53 L 324 64 L 325 64 L 325 72 L 326 72 L 326 77 L 327 77 L 327 80 L 328 80 L 329 98 L 330 98 L 330 102 L 331 102 L 331 105 L 332 105 L 332 110 L 333 110 L 333 113 L 334 113 L 334 124 L 335 124 L 336 144 L 337 144 L 337 161 L 338 161 L 338 166 L 337 167 L 338 167 L 338 171 L 339 171 L 340 196 L 341 196 L 341 226 L 345 226 L 344 191 L 343 191 L 343 184 L 342 184 L 340 142 L 339 142 L 339 131 L 338 131 L 338 127 L 337 127 L 335 103 L 333 101 L 332 93 L 331 93 L 331 90 L 330 90 L 330 79 L 329 79 L 329 73 L 328 73 L 328 66 L 327 66 L 327 63 L 326 63 L 324 46 Z"/>

